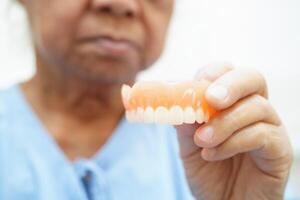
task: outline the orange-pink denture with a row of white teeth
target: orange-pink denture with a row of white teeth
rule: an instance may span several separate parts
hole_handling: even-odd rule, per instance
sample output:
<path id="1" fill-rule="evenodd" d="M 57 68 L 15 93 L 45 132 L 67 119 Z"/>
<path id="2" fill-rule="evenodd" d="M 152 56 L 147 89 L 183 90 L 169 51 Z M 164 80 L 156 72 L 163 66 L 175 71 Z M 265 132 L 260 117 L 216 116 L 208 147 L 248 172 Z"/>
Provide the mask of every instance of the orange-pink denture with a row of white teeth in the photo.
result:
<path id="1" fill-rule="evenodd" d="M 122 99 L 130 122 L 158 124 L 205 123 L 217 114 L 205 100 L 209 82 L 137 82 L 123 85 Z"/>

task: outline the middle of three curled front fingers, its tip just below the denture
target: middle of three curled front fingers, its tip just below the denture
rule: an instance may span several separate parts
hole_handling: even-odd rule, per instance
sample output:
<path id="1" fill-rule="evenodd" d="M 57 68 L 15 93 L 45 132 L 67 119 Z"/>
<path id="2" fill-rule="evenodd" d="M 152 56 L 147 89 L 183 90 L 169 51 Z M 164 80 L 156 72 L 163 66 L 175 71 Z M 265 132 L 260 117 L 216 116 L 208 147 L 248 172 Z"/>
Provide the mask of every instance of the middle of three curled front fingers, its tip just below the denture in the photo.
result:
<path id="1" fill-rule="evenodd" d="M 274 125 L 281 124 L 270 103 L 259 95 L 252 95 L 201 126 L 194 135 L 194 141 L 199 147 L 216 147 L 237 130 L 260 121 Z"/>

